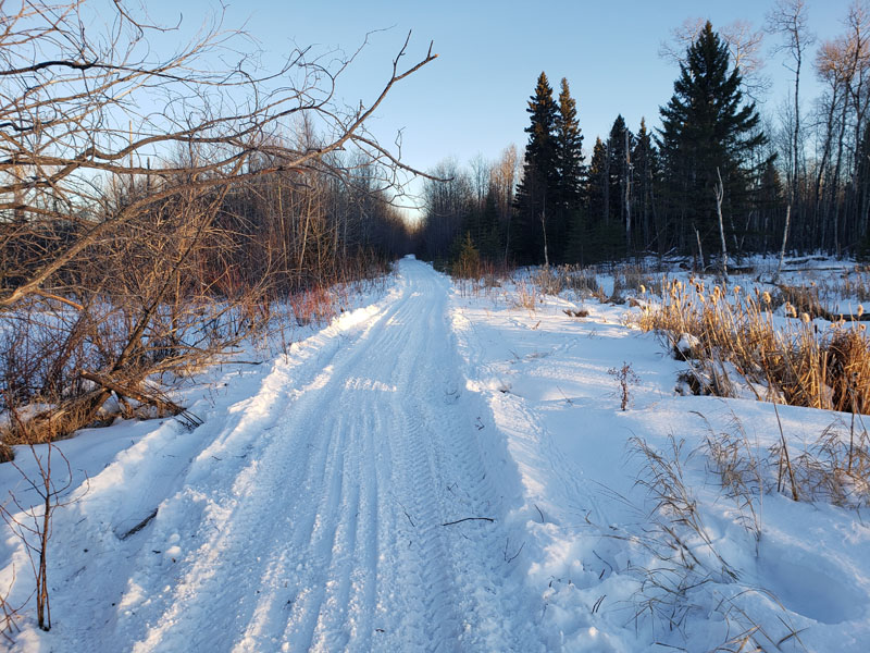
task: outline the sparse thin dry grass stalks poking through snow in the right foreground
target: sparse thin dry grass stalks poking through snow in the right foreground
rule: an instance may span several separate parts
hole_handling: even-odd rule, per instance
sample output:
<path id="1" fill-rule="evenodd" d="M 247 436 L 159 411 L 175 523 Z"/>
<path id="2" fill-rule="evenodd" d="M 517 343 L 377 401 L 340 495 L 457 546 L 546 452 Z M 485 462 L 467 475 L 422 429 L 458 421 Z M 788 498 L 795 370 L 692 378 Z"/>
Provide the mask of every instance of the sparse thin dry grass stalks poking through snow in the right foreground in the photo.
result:
<path id="1" fill-rule="evenodd" d="M 717 459 L 725 469 L 735 470 L 734 459 L 743 456 L 744 448 L 749 449 L 739 442 L 745 442 L 742 430 L 729 438 L 721 443 Z M 719 440 L 719 435 L 713 436 L 711 432 L 711 442 Z M 627 566 L 627 571 L 637 579 L 631 601 L 634 620 L 648 620 L 654 632 L 661 628 L 662 640 L 656 641 L 657 645 L 681 651 L 694 649 L 674 645 L 680 642 L 672 638 L 682 633 L 687 642 L 689 636 L 695 634 L 686 632 L 693 614 L 707 619 L 716 614 L 711 620 L 721 623 L 714 637 L 721 638 L 722 643 L 713 651 L 772 651 L 788 640 L 803 646 L 799 631 L 791 624 L 787 611 L 775 595 L 743 584 L 737 571 L 717 550 L 712 531 L 705 523 L 686 477 L 689 461 L 698 451 L 686 451 L 685 441 L 670 435 L 662 449 L 642 438 L 632 438 L 630 452 L 641 463 L 636 484 L 646 491 L 647 518 L 639 528 L 629 531 L 612 526 L 597 528 L 605 538 L 627 541 L 639 550 L 632 553 L 634 562 Z M 757 477 L 746 468 L 738 476 Z M 732 477 L 728 488 L 728 492 L 739 496 L 747 491 L 758 491 L 760 485 Z M 587 522 L 596 527 L 588 518 Z M 745 526 L 760 530 L 754 520 Z M 756 605 L 751 595 L 757 593 L 770 600 L 776 618 L 766 616 L 762 619 L 748 607 Z"/>

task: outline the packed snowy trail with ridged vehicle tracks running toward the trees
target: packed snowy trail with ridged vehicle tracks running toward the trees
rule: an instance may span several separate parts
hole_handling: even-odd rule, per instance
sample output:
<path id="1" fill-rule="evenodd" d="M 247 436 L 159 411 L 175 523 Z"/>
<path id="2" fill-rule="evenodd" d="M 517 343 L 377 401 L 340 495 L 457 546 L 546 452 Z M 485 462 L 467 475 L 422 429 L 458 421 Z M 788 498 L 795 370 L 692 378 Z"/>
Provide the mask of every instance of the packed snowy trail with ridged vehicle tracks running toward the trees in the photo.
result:
<path id="1" fill-rule="evenodd" d="M 262 431 L 243 416 L 195 456 L 110 569 L 115 612 L 53 650 L 543 650 L 502 553 L 511 506 L 476 438 L 485 402 L 458 375 L 449 282 L 399 272 L 358 337 L 293 368 L 268 408 L 250 401 Z M 443 526 L 467 517 L 495 521 Z"/>

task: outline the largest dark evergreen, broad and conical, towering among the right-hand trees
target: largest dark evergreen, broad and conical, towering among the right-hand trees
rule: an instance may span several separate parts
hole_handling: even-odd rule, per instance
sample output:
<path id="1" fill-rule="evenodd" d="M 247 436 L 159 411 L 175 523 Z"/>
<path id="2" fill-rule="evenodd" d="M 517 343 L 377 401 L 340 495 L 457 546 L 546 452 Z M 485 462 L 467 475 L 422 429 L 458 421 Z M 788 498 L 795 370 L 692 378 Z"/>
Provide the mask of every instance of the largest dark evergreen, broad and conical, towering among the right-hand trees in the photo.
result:
<path id="1" fill-rule="evenodd" d="M 707 22 L 680 64 L 673 96 L 660 108 L 658 141 L 669 212 L 676 221 L 682 248 L 691 248 L 697 230 L 706 256 L 719 250 L 714 196 L 719 177 L 724 188 L 723 212 L 747 211 L 755 173 L 751 153 L 767 143 L 757 128 L 755 103 L 743 102 L 741 82 L 726 45 Z"/>

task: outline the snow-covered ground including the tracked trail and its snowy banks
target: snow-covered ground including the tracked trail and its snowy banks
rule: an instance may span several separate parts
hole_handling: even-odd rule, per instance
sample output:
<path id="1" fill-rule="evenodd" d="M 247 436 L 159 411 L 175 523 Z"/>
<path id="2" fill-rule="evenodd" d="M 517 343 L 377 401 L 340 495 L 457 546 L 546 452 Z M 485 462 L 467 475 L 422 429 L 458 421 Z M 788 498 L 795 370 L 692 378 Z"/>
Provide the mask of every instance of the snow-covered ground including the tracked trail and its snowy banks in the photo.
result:
<path id="1" fill-rule="evenodd" d="M 867 651 L 863 513 L 734 495 L 713 472 L 710 433 L 767 460 L 773 406 L 676 395 L 681 364 L 624 306 L 518 300 L 406 259 L 385 296 L 286 356 L 212 370 L 195 431 L 59 443 L 75 478 L 53 520 L 52 629 L 30 601 L 0 646 Z M 842 417 L 779 414 L 796 452 Z M 34 473 L 28 451 L 16 463 Z M 0 489 L 36 500 L 9 465 Z M 24 603 L 11 535 L 0 567 Z"/>

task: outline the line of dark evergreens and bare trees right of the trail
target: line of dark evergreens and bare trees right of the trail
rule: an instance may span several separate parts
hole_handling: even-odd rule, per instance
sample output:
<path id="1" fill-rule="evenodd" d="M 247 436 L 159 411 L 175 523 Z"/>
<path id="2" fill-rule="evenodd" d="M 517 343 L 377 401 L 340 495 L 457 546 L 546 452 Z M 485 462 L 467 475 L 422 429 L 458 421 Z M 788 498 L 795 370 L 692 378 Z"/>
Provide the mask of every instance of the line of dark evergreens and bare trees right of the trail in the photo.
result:
<path id="1" fill-rule="evenodd" d="M 699 268 L 728 256 L 790 251 L 870 255 L 870 8 L 855 2 L 845 32 L 819 45 L 803 0 L 780 0 L 768 15 L 793 72 L 778 120 L 753 97 L 763 88 L 755 61 L 760 33 L 687 23 L 673 94 L 660 126 L 633 131 L 618 115 L 588 159 L 576 101 L 546 73 L 526 111 L 530 124 L 513 186 L 502 159 L 471 173 L 448 162 L 428 183 L 421 249 L 449 260 L 471 244 L 507 264 L 598 263 L 643 256 L 692 257 Z M 800 102 L 812 64 L 824 84 L 811 111 Z M 508 201 L 498 201 L 508 197 Z"/>

